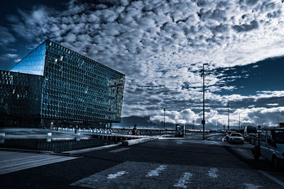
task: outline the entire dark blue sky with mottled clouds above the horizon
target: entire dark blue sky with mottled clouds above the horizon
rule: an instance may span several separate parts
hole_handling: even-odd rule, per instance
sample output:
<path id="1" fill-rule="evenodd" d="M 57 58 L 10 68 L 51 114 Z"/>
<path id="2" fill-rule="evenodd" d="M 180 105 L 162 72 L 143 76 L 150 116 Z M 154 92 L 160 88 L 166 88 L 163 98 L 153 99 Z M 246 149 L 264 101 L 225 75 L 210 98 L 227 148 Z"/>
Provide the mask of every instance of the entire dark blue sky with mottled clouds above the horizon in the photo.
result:
<path id="1" fill-rule="evenodd" d="M 281 0 L 6 1 L 0 69 L 45 39 L 126 74 L 123 117 L 207 126 L 284 122 Z"/>

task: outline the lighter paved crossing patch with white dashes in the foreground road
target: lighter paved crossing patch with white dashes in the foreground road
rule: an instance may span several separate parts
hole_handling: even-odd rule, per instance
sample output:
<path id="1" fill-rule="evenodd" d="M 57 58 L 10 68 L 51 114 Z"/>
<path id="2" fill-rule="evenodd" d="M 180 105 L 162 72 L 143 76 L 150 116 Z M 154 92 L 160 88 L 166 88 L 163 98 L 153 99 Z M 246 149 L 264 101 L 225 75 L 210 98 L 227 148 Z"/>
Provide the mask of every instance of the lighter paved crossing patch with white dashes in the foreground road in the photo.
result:
<path id="1" fill-rule="evenodd" d="M 279 188 L 255 170 L 126 161 L 71 185 L 88 188 Z"/>

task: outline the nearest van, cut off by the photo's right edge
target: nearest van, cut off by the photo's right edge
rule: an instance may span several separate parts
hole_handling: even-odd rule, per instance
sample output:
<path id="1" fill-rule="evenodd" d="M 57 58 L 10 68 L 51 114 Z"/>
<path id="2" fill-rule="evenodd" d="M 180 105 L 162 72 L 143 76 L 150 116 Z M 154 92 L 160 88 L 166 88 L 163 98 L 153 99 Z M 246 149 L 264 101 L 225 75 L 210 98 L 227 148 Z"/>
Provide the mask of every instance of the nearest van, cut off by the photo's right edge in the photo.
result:
<path id="1" fill-rule="evenodd" d="M 268 159 L 273 166 L 284 167 L 284 128 L 266 127 L 261 130 L 261 142 L 253 148 L 254 158 Z"/>

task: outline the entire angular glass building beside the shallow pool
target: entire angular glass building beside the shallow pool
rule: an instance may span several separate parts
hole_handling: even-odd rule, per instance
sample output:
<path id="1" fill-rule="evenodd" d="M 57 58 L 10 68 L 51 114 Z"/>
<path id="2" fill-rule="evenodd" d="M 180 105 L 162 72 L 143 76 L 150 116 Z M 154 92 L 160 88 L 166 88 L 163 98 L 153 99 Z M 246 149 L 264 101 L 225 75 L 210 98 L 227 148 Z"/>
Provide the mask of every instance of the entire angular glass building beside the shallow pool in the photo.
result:
<path id="1" fill-rule="evenodd" d="M 121 120 L 125 75 L 50 40 L 0 73 L 2 127 L 111 127 Z"/>

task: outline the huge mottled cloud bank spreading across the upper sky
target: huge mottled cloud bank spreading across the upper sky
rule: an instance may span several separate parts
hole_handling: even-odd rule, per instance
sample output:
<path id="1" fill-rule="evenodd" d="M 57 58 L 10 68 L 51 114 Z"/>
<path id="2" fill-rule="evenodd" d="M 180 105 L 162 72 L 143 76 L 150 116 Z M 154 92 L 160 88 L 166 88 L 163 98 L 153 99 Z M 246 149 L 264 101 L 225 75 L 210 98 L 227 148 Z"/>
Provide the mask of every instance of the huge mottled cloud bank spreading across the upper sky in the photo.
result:
<path id="1" fill-rule="evenodd" d="M 9 22 L 13 32 L 34 44 L 49 38 L 124 72 L 124 116 L 155 115 L 167 107 L 173 110 L 167 112 L 168 122 L 189 121 L 192 110 L 201 107 L 199 71 L 205 62 L 211 73 L 206 77 L 206 98 L 215 109 L 207 113 L 212 118 L 217 106 L 222 108 L 227 101 L 258 107 L 249 101 L 284 96 L 283 91 L 221 95 L 237 89 L 226 85 L 228 81 L 249 73 L 214 72 L 284 55 L 280 0 L 97 2 L 70 1 L 63 11 L 34 7 L 9 16 Z M 0 33 L 11 37 L 5 41 L 1 36 L 0 45 L 15 41 L 6 28 L 1 27 Z M 275 102 L 263 105 L 271 104 Z M 159 120 L 157 116 L 153 120 Z"/>

